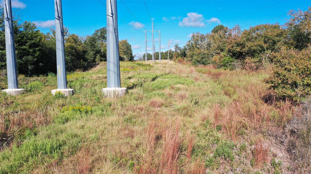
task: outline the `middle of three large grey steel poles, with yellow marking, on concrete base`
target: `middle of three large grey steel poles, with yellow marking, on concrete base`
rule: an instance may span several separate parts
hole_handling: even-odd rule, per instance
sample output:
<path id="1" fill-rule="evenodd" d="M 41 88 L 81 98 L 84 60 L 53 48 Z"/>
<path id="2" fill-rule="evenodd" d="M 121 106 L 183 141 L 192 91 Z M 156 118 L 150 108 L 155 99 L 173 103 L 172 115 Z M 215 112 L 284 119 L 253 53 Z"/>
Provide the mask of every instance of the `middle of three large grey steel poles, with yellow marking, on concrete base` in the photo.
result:
<path id="1" fill-rule="evenodd" d="M 57 63 L 57 89 L 52 94 L 61 92 L 65 96 L 73 95 L 73 89 L 67 89 L 65 42 L 63 27 L 62 0 L 54 0 L 55 7 L 55 37 L 56 37 L 56 63 Z"/>

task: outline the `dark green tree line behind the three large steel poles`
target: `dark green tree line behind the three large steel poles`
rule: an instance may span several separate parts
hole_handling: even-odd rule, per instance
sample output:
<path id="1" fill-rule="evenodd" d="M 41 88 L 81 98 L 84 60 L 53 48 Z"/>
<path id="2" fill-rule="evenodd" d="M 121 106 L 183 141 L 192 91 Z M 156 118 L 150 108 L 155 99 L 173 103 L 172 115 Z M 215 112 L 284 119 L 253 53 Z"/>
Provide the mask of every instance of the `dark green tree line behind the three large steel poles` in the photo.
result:
<path id="1" fill-rule="evenodd" d="M 16 64 L 19 74 L 26 76 L 56 73 L 55 30 L 42 33 L 30 21 L 21 21 L 13 15 L 13 29 L 16 47 Z M 0 69 L 6 68 L 4 13 L 0 6 Z M 67 71 L 85 71 L 99 62 L 107 60 L 107 31 L 100 28 L 86 37 L 71 34 L 64 28 L 65 58 Z M 133 61 L 132 47 L 127 40 L 119 41 L 120 60 Z"/>

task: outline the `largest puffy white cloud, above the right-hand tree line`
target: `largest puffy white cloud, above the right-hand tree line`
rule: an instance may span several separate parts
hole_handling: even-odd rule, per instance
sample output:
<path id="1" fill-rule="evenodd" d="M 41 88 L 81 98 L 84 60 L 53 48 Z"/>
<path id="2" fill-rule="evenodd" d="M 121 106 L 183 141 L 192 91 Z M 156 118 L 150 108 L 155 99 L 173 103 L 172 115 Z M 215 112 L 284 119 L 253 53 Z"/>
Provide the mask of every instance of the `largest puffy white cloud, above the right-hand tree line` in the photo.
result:
<path id="1" fill-rule="evenodd" d="M 204 27 L 204 16 L 198 13 L 187 13 L 187 17 L 179 22 L 179 27 Z"/>

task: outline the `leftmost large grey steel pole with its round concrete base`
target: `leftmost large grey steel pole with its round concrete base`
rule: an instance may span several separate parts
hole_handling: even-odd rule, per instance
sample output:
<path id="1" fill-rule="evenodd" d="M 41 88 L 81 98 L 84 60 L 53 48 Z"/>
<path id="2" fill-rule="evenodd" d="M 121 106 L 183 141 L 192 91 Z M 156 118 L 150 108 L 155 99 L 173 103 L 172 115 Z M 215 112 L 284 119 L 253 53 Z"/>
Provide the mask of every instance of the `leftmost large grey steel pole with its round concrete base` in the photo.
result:
<path id="1" fill-rule="evenodd" d="M 4 0 L 4 27 L 8 89 L 2 91 L 11 95 L 19 95 L 24 89 L 18 89 L 11 0 Z"/>

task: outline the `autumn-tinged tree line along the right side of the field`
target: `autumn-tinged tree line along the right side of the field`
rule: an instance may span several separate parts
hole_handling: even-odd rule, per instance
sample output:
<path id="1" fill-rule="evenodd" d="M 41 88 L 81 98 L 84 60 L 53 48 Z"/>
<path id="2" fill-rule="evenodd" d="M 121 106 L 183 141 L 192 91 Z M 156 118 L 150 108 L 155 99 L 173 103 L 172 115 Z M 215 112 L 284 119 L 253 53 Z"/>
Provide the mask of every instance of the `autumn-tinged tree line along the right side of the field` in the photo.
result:
<path id="1" fill-rule="evenodd" d="M 239 25 L 218 25 L 210 33 L 193 33 L 185 46 L 175 45 L 173 59 L 230 70 L 270 67 L 270 88 L 299 102 L 311 95 L 311 7 L 289 15 L 283 26 L 259 24 L 242 31 Z"/>

